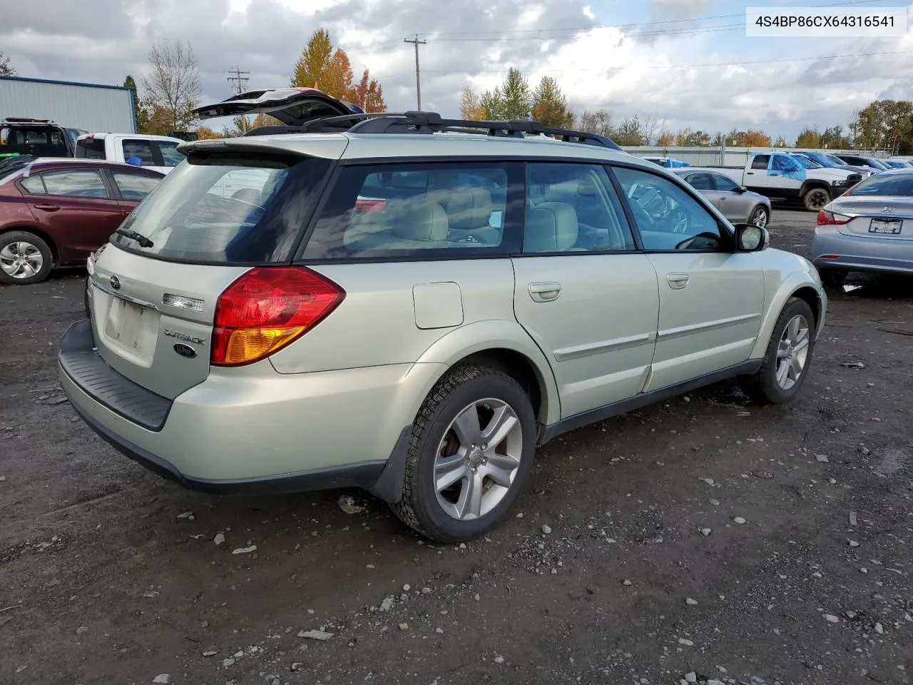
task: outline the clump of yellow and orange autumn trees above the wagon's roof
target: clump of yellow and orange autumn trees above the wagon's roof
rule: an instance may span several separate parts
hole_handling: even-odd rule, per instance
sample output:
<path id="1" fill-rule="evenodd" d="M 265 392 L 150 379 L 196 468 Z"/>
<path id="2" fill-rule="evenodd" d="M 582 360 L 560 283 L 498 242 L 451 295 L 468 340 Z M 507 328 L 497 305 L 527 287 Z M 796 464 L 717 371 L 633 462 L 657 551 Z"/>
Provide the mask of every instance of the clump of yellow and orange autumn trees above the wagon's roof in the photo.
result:
<path id="1" fill-rule="evenodd" d="M 330 32 L 314 31 L 295 64 L 291 76 L 293 87 L 317 88 L 340 100 L 352 102 L 364 111 L 384 111 L 383 88 L 372 79 L 368 69 L 356 83 L 352 62 L 341 47 L 333 49 Z"/>

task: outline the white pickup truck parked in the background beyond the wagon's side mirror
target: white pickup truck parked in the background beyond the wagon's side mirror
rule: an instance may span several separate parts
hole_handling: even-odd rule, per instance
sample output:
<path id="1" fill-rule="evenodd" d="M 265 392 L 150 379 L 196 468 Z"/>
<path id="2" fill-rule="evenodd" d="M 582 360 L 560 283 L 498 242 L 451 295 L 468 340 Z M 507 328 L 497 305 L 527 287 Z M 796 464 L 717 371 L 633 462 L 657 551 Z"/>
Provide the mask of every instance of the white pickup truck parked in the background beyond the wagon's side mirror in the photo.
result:
<path id="1" fill-rule="evenodd" d="M 802 200 L 812 212 L 824 209 L 834 197 L 843 195 L 862 180 L 862 174 L 843 169 L 811 168 L 786 153 L 754 153 L 741 166 L 714 166 L 750 191 L 768 197 Z"/>

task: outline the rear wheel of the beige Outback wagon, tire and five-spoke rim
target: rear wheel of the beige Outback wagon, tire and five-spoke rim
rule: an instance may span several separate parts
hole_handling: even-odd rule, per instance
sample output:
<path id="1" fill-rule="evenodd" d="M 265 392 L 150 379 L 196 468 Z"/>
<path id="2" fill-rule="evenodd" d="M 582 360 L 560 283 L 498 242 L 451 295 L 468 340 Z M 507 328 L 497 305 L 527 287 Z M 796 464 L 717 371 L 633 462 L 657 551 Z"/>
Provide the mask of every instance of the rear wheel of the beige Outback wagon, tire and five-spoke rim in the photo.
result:
<path id="1" fill-rule="evenodd" d="M 415 417 L 403 496 L 391 508 L 433 540 L 471 540 L 517 501 L 535 448 L 536 417 L 517 381 L 486 366 L 456 367 Z"/>

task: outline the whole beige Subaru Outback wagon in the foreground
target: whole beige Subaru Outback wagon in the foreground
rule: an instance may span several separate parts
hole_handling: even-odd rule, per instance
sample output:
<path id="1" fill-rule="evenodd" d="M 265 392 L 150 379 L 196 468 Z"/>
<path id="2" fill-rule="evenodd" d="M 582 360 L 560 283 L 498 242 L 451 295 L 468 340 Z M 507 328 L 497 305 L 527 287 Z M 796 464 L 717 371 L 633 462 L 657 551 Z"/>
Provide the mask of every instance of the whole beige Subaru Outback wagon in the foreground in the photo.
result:
<path id="1" fill-rule="evenodd" d="M 60 343 L 79 415 L 164 477 L 359 486 L 456 542 L 565 431 L 729 377 L 802 387 L 813 266 L 613 142 L 310 89 L 200 115 L 259 111 L 282 125 L 181 146 Z"/>

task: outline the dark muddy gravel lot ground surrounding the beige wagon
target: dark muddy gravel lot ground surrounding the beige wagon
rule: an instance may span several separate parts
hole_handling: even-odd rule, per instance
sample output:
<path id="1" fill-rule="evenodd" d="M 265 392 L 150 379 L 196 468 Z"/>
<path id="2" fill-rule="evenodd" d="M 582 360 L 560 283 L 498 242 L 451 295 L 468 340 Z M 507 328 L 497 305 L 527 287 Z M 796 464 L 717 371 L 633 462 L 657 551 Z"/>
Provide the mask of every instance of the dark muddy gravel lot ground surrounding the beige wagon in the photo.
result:
<path id="1" fill-rule="evenodd" d="M 773 244 L 812 227 L 777 210 Z M 907 283 L 831 294 L 792 406 L 719 385 L 578 430 L 455 547 L 360 491 L 218 498 L 115 453 L 56 378 L 84 278 L 0 288 L 4 685 L 913 680 Z"/>

